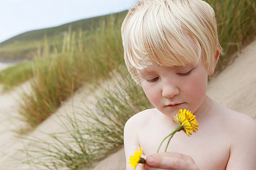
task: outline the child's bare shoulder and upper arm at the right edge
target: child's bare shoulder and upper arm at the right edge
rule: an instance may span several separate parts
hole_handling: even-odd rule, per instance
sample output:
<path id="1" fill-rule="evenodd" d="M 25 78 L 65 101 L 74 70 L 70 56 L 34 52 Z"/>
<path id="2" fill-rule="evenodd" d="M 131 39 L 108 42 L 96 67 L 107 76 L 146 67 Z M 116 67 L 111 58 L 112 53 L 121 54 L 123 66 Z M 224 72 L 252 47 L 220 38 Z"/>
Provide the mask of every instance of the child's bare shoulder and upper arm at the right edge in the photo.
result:
<path id="1" fill-rule="evenodd" d="M 229 161 L 226 169 L 255 169 L 256 122 L 250 116 L 222 107 L 222 132 L 229 143 Z"/>

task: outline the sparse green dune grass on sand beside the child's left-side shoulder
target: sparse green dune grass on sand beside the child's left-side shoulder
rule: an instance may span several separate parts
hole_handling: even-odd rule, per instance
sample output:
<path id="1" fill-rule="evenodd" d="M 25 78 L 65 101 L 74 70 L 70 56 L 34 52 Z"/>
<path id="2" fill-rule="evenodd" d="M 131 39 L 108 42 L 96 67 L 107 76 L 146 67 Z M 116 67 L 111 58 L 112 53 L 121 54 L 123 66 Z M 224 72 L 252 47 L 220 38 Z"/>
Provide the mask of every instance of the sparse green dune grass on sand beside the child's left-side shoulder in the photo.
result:
<path id="1" fill-rule="evenodd" d="M 66 131 L 48 134 L 53 142 L 36 137 L 27 139 L 32 143 L 23 150 L 28 156 L 23 163 L 37 169 L 90 169 L 94 162 L 119 150 L 126 121 L 135 113 L 152 107 L 125 66 L 119 68 L 121 80 L 115 85 L 124 86 L 118 90 L 102 89 L 103 95 L 95 96 L 97 100 L 108 99 L 108 104 L 98 106 L 102 114 L 89 107 L 89 101 L 73 114 L 62 114 L 59 122 Z"/>

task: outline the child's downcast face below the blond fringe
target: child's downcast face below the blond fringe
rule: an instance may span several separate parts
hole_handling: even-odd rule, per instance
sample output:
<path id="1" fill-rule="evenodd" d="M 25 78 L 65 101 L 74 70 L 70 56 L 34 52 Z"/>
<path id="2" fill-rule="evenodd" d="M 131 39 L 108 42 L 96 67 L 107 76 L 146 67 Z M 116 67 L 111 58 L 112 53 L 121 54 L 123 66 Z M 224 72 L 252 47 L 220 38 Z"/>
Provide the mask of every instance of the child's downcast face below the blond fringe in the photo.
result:
<path id="1" fill-rule="evenodd" d="M 179 109 L 195 113 L 204 101 L 208 71 L 203 61 L 197 66 L 147 66 L 138 70 L 141 86 L 158 111 L 173 118 Z"/>

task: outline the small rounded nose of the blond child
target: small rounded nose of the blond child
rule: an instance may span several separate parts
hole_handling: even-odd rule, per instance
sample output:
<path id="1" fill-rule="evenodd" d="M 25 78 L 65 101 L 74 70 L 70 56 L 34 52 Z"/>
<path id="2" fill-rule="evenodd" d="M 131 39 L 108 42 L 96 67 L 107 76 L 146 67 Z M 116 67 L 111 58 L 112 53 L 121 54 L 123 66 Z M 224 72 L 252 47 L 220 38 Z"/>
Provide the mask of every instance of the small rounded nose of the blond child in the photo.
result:
<path id="1" fill-rule="evenodd" d="M 172 98 L 176 95 L 179 95 L 179 93 L 180 93 L 180 90 L 174 83 L 171 83 L 170 81 L 163 83 L 163 88 L 162 88 L 163 97 Z"/>

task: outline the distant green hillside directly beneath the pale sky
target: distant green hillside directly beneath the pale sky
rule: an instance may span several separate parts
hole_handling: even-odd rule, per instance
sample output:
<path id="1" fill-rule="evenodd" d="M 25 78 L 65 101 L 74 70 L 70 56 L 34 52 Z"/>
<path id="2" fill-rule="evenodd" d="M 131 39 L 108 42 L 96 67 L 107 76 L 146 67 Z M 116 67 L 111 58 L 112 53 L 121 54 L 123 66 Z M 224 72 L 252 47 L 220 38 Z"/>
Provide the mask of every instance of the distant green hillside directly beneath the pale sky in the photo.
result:
<path id="1" fill-rule="evenodd" d="M 124 18 L 127 11 L 118 12 L 113 15 L 115 19 Z M 71 28 L 72 31 L 89 32 L 100 27 L 102 22 L 107 22 L 110 15 L 98 16 L 95 18 L 82 19 L 76 22 L 63 24 L 57 27 L 28 31 L 14 36 L 0 44 L 0 61 L 12 61 L 17 59 L 31 59 L 36 54 L 36 50 L 43 47 L 44 39 L 47 37 L 50 43 L 54 40 L 62 40 L 63 35 Z M 51 44 L 49 44 L 51 45 Z"/>

